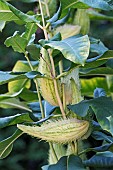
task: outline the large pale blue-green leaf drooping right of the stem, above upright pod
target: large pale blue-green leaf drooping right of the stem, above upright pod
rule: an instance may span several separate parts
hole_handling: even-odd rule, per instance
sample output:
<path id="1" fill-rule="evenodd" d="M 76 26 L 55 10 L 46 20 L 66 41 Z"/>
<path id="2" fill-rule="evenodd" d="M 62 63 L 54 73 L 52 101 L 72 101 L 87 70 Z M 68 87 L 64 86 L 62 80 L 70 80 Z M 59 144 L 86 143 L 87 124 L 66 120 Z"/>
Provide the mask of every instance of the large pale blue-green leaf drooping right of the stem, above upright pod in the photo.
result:
<path id="1" fill-rule="evenodd" d="M 61 51 L 66 59 L 84 65 L 89 55 L 90 42 L 87 35 L 73 36 L 62 41 L 48 42 L 45 44 L 47 46 Z"/>

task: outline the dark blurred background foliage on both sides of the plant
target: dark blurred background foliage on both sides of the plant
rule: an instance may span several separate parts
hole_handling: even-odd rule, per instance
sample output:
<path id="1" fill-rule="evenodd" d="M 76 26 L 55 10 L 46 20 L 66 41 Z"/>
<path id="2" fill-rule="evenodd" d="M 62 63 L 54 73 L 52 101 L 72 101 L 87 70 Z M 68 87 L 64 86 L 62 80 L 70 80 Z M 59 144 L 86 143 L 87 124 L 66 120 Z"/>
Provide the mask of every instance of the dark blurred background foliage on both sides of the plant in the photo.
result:
<path id="1" fill-rule="evenodd" d="M 35 3 L 26 5 L 20 2 L 13 2 L 12 4 L 23 12 L 34 10 L 36 5 Z M 113 16 L 113 11 L 107 12 L 107 14 Z M 19 30 L 21 33 L 24 28 L 12 22 L 8 23 L 3 32 L 0 33 L 0 70 L 9 71 L 18 59 L 24 59 L 22 54 L 15 53 L 12 48 L 6 48 L 4 45 L 5 39 L 11 36 L 16 30 Z M 91 21 L 90 36 L 100 39 L 109 49 L 112 49 L 113 23 L 110 21 Z M 7 86 L 1 86 L 0 92 L 4 93 L 6 91 Z M 1 117 L 15 113 L 20 113 L 20 111 L 13 110 L 12 113 L 11 109 L 0 109 Z M 2 129 L 0 141 L 13 134 L 14 131 L 15 127 Z M 0 170 L 40 170 L 42 165 L 47 164 L 47 151 L 48 145 L 46 143 L 23 135 L 14 143 L 14 148 L 10 156 L 4 160 L 0 160 Z"/>

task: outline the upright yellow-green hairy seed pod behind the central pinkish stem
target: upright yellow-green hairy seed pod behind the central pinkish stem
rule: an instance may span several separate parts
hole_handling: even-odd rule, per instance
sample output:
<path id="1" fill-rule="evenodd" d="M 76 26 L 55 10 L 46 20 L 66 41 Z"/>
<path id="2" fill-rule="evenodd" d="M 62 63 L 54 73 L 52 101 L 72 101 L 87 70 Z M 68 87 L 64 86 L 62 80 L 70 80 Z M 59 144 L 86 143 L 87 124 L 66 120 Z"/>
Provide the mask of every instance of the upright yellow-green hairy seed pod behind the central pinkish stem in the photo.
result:
<path id="1" fill-rule="evenodd" d="M 38 71 L 41 74 L 51 77 L 51 64 L 50 64 L 48 53 L 44 48 L 42 48 L 41 54 L 42 56 L 40 57 Z M 47 78 L 40 78 L 38 79 L 38 84 L 39 84 L 40 92 L 43 98 L 46 101 L 48 101 L 51 105 L 58 106 L 53 80 L 47 79 Z M 58 85 L 58 91 L 61 97 L 61 94 L 62 94 L 61 83 L 59 80 L 57 80 L 57 85 Z"/>

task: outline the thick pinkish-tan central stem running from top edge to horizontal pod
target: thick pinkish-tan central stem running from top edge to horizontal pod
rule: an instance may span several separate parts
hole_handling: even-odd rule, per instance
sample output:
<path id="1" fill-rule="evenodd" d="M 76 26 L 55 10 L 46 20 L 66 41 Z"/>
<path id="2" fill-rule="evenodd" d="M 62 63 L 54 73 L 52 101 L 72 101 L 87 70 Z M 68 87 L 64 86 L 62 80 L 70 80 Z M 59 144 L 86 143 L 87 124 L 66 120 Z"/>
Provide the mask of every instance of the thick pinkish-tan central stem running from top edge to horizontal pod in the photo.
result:
<path id="1" fill-rule="evenodd" d="M 44 30 L 45 39 L 48 40 L 48 34 L 47 34 L 46 26 L 45 26 L 41 0 L 39 0 L 39 6 L 40 6 L 40 11 L 41 11 L 41 16 L 42 16 L 42 23 L 43 23 L 43 30 Z M 53 57 L 52 57 L 52 51 L 49 49 L 48 53 L 49 53 L 49 56 L 50 56 L 50 61 L 51 61 L 51 66 L 52 66 L 52 77 L 53 77 L 53 82 L 54 82 L 54 88 L 55 88 L 57 101 L 58 101 L 58 104 L 59 104 L 59 107 L 60 107 L 60 110 L 61 110 L 61 113 L 62 113 L 62 117 L 65 119 L 66 114 L 65 114 L 63 104 L 61 102 L 59 91 L 58 91 L 58 85 L 57 85 L 57 80 L 56 80 L 55 65 L 54 65 L 54 61 L 53 61 Z"/>

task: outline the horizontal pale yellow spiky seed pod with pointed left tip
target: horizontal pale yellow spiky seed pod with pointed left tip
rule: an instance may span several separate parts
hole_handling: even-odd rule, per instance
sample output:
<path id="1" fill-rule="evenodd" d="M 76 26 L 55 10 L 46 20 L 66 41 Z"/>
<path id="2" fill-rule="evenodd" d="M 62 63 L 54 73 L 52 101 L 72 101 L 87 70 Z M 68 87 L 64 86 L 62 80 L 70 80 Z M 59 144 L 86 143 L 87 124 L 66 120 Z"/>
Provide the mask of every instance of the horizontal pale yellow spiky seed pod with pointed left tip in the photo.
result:
<path id="1" fill-rule="evenodd" d="M 18 125 L 18 128 L 42 140 L 66 144 L 84 138 L 89 129 L 89 122 L 71 118 L 45 122 L 41 127 Z"/>

